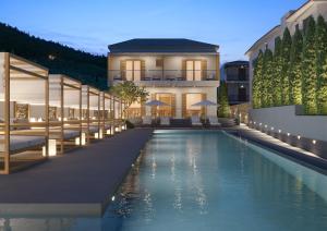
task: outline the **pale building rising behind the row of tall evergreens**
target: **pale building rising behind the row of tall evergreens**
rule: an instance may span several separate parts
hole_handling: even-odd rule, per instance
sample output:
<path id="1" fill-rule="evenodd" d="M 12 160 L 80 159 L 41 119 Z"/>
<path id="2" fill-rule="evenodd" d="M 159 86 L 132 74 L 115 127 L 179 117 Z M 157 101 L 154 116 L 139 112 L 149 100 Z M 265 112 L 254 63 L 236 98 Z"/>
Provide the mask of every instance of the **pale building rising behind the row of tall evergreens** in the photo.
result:
<path id="1" fill-rule="evenodd" d="M 265 50 L 268 47 L 274 51 L 276 37 L 282 37 L 286 27 L 290 29 L 291 35 L 294 34 L 295 28 L 302 29 L 305 27 L 306 19 L 318 15 L 323 15 L 327 20 L 327 1 L 326 0 L 310 0 L 301 5 L 298 10 L 289 11 L 280 22 L 280 25 L 271 28 L 267 34 L 259 38 L 247 51 L 246 56 L 250 60 L 250 99 L 252 92 L 252 78 L 253 78 L 253 61 L 257 58 L 259 50 Z"/>

